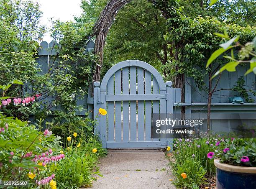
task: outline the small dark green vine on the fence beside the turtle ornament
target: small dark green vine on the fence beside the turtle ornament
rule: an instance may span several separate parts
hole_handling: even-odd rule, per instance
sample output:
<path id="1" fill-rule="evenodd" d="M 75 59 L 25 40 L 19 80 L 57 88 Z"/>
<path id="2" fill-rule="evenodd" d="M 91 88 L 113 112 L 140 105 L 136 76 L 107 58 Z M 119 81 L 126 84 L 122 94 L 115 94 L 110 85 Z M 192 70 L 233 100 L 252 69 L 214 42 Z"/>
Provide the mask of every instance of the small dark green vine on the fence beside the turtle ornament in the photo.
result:
<path id="1" fill-rule="evenodd" d="M 253 88 L 253 86 L 252 86 L 252 88 Z M 245 88 L 245 80 L 244 80 L 243 76 L 238 78 L 238 81 L 236 82 L 236 85 L 231 90 L 237 91 L 238 95 L 243 97 L 246 100 L 246 102 L 248 102 L 248 103 L 253 103 L 254 102 L 254 100 L 248 95 L 248 92 L 251 92 L 253 94 L 253 96 L 256 96 L 256 92 L 253 91 L 252 89 L 247 90 Z"/>

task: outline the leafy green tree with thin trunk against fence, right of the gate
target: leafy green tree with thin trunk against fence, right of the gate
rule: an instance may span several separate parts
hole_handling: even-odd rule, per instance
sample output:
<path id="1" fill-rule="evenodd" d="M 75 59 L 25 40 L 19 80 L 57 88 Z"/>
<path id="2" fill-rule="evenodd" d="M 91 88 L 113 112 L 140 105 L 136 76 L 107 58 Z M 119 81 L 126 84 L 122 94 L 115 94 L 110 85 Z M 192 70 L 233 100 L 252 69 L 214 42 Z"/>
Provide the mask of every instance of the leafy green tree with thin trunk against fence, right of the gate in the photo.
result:
<path id="1" fill-rule="evenodd" d="M 179 1 L 153 1 L 154 5 L 163 11 L 167 19 L 169 31 L 164 36 L 169 42 L 168 47 L 172 53 L 170 62 L 166 64 L 169 77 L 174 80 L 174 86 L 182 89 L 182 102 L 184 102 L 184 74 L 192 77 L 198 88 L 207 94 L 207 128 L 210 129 L 210 110 L 212 95 L 221 75 L 217 79 L 212 76 L 227 60 L 218 59 L 215 64 L 205 68 L 206 61 L 211 54 L 224 42 L 222 38 L 213 33 L 228 30 L 232 36 L 241 35 L 242 41 L 251 40 L 256 33 L 256 28 L 241 27 L 236 24 L 220 22 L 217 18 L 201 16 L 191 19 L 183 14 L 184 8 Z M 227 51 L 228 52 L 228 51 Z M 231 52 L 232 53 L 232 52 Z M 205 77 L 209 79 L 208 86 Z"/>

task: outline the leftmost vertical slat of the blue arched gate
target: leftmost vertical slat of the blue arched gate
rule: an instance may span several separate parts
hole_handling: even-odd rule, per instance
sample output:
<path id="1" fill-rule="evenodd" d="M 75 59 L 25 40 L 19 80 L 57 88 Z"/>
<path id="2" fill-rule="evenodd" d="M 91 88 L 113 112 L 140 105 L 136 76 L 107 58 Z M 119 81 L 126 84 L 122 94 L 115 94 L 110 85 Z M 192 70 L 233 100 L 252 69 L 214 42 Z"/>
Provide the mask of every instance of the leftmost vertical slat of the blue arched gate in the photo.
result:
<path id="1" fill-rule="evenodd" d="M 114 76 L 108 81 L 108 95 L 114 95 Z M 108 141 L 114 141 L 114 102 L 108 102 Z"/>

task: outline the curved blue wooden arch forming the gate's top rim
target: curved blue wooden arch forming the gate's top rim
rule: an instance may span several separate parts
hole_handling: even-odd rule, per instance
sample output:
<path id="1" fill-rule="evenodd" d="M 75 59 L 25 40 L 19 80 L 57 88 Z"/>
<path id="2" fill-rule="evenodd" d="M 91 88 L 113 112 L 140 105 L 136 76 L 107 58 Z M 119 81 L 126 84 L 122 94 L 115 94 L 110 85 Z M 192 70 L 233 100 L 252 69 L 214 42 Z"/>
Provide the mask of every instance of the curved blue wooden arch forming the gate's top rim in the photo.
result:
<path id="1" fill-rule="evenodd" d="M 125 60 L 125 61 L 119 62 L 118 64 L 115 64 L 115 66 L 113 66 L 108 70 L 108 72 L 105 74 L 104 78 L 102 79 L 100 91 L 106 92 L 108 81 L 110 77 L 112 77 L 112 75 L 115 74 L 115 72 L 117 72 L 122 68 L 131 67 L 131 66 L 141 67 L 147 70 L 148 72 L 150 72 L 153 75 L 153 77 L 156 79 L 159 85 L 160 91 L 166 90 L 166 86 L 164 84 L 164 80 L 161 74 L 159 74 L 159 72 L 153 66 L 140 60 Z"/>

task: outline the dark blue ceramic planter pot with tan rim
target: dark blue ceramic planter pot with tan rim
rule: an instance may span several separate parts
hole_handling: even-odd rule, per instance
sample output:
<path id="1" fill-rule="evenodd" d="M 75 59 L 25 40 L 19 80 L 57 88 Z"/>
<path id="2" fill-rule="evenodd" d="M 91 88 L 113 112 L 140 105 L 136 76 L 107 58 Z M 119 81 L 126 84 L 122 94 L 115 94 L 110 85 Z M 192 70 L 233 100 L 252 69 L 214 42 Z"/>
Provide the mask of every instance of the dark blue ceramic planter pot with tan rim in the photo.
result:
<path id="1" fill-rule="evenodd" d="M 214 160 L 217 189 L 255 189 L 256 188 L 256 168 L 232 166 Z"/>

